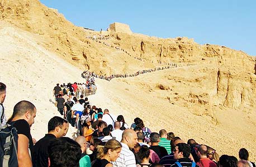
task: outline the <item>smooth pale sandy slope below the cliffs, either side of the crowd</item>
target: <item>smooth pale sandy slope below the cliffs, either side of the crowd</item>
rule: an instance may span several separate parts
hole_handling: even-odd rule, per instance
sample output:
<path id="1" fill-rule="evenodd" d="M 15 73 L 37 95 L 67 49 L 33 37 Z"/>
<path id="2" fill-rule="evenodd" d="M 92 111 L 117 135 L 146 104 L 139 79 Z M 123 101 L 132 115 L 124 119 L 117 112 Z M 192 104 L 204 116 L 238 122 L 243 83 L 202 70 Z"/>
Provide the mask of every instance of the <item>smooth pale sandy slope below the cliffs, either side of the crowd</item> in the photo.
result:
<path id="1" fill-rule="evenodd" d="M 82 71 L 35 42 L 41 40 L 40 36 L 4 22 L 0 22 L 0 36 L 0 81 L 7 85 L 4 102 L 7 116 L 11 115 L 18 101 L 33 102 L 37 107 L 37 117 L 32 135 L 38 140 L 47 132 L 50 117 L 59 115 L 52 102 L 53 87 L 57 82 L 83 81 L 80 77 Z M 164 128 L 185 141 L 194 138 L 198 143 L 213 146 L 220 154 L 238 156 L 238 150 L 245 147 L 255 159 L 254 112 L 215 109 L 214 116 L 219 120 L 219 124 L 215 125 L 212 115 L 198 116 L 182 106 L 182 101 L 171 104 L 166 97 L 174 96 L 174 92 L 155 89 L 158 81 L 164 81 L 163 78 L 180 76 L 183 80 L 188 79 L 189 75 L 195 75 L 197 68 L 201 67 L 176 68 L 111 82 L 97 79 L 97 94 L 89 97 L 89 101 L 102 109 L 109 109 L 116 116 L 124 115 L 129 124 L 139 116 L 153 131 Z M 186 74 L 184 71 L 187 71 Z M 175 83 L 166 81 L 162 84 L 182 93 L 186 87 Z M 74 129 L 69 130 L 68 136 L 72 131 Z"/>

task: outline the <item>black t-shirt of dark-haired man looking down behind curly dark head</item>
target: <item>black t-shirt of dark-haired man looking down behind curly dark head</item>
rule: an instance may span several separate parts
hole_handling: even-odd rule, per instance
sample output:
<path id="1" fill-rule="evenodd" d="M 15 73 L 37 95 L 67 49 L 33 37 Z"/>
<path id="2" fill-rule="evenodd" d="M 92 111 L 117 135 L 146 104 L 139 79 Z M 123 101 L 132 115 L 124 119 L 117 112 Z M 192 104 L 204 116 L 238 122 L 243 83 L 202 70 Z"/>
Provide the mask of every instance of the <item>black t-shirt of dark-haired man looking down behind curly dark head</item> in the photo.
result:
<path id="1" fill-rule="evenodd" d="M 36 167 L 48 166 L 48 146 L 50 145 L 51 139 L 56 138 L 53 134 L 46 134 L 42 139 L 37 141 L 34 146 L 32 163 Z"/>

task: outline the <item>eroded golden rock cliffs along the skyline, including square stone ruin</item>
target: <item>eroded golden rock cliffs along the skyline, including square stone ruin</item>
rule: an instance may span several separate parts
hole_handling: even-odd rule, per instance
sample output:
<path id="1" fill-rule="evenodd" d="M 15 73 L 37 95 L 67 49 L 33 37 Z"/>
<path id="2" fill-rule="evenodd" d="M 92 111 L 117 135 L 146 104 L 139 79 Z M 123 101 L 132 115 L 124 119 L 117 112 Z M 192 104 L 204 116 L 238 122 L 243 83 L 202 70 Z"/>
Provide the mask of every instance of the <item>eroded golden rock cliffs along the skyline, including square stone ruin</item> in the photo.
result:
<path id="1" fill-rule="evenodd" d="M 163 39 L 139 35 L 121 23 L 111 24 L 113 31 L 109 31 L 103 45 L 103 41 L 99 43 L 86 38 L 99 37 L 99 32 L 74 26 L 56 9 L 47 8 L 39 1 L 1 1 L 0 11 L 2 20 L 40 36 L 40 45 L 83 70 L 111 75 L 164 66 L 166 62 L 189 63 L 198 66 L 198 72 L 192 73 L 189 80 L 181 74 L 178 84 L 183 82 L 188 91 L 177 93 L 170 101 L 183 100 L 184 106 L 204 106 L 207 110 L 216 105 L 234 109 L 256 106 L 255 58 L 242 51 L 225 46 L 198 45 L 186 37 Z M 186 70 L 183 72 L 187 73 Z M 189 84 L 197 85 L 201 90 L 193 92 L 189 90 Z M 157 89 L 170 91 L 172 87 L 159 83 Z"/>

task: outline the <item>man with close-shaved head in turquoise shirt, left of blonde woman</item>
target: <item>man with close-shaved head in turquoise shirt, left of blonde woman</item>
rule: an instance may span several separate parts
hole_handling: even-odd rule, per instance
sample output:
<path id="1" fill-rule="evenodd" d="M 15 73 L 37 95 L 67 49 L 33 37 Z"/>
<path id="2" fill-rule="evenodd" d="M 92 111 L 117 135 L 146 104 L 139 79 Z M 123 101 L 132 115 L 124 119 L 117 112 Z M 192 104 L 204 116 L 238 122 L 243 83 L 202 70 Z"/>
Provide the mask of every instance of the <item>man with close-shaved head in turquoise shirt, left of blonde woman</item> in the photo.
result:
<path id="1" fill-rule="evenodd" d="M 91 160 L 89 156 L 86 155 L 86 137 L 78 136 L 77 139 L 75 139 L 75 141 L 77 141 L 82 150 L 81 159 L 79 160 L 79 166 L 91 167 Z"/>

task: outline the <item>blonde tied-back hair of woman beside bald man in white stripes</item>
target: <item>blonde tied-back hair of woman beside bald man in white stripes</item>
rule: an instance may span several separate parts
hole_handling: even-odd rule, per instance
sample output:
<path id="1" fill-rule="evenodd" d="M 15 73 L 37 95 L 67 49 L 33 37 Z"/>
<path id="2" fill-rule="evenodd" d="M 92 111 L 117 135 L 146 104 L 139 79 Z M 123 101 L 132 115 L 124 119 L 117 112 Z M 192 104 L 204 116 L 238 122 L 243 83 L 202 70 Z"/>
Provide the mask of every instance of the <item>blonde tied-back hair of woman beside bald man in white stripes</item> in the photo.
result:
<path id="1" fill-rule="evenodd" d="M 97 150 L 98 150 L 97 158 L 101 159 L 104 155 L 107 154 L 107 151 L 109 149 L 117 150 L 120 148 L 122 148 L 122 145 L 119 141 L 117 141 L 115 139 L 110 139 L 106 142 L 106 144 L 104 146 L 102 146 L 102 145 L 97 146 Z"/>

